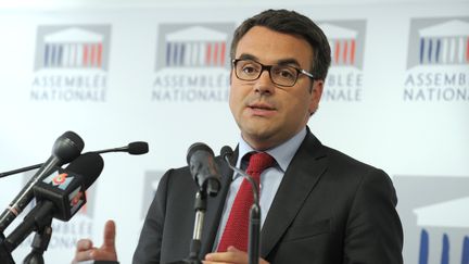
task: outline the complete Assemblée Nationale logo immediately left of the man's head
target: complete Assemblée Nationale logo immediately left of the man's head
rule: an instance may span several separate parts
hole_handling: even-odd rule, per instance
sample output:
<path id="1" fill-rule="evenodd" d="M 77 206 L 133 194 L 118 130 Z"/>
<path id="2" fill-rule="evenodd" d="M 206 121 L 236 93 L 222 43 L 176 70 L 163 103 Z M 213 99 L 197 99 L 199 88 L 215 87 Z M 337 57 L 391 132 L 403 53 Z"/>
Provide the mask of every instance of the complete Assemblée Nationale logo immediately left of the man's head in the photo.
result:
<path id="1" fill-rule="evenodd" d="M 234 24 L 162 24 L 152 101 L 227 101 Z"/>

